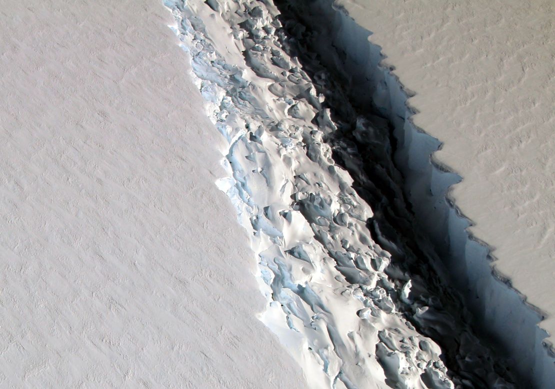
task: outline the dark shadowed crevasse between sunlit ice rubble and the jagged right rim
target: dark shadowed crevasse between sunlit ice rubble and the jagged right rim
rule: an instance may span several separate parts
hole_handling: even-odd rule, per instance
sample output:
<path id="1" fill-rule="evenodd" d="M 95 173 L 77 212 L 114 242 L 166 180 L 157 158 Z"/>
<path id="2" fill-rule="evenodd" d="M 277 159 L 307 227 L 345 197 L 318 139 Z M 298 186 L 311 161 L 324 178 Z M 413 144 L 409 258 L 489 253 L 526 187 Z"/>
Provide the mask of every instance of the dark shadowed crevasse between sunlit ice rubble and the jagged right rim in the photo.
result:
<path id="1" fill-rule="evenodd" d="M 547 334 L 537 326 L 541 314 L 495 274 L 487 245 L 466 231 L 470 222 L 447 197 L 461 177 L 433 163 L 441 143 L 413 126 L 410 95 L 380 66 L 384 57 L 369 42 L 371 33 L 331 0 L 275 3 L 285 47 L 300 59 L 341 124 L 326 141 L 374 209 L 371 231 L 379 229 L 395 242 L 380 241 L 395 262 L 433 286 L 454 322 L 471 327 L 523 387 L 550 387 L 555 367 Z M 331 79 L 322 79 L 322 68 Z M 462 313 L 461 304 L 471 315 Z M 457 355 L 464 353 L 462 332 L 458 339 L 428 335 L 456 371 Z"/>

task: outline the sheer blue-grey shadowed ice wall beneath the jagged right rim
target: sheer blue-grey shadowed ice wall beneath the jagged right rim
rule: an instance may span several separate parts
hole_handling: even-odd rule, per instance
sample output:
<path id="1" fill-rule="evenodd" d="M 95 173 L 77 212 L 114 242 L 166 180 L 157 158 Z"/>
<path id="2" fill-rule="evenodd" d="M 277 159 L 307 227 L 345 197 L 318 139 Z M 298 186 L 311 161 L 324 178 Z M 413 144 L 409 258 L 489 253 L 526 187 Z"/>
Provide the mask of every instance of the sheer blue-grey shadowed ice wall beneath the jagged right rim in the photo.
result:
<path id="1" fill-rule="evenodd" d="M 449 188 L 461 177 L 430 157 L 441 144 L 412 124 L 413 111 L 406 103 L 411 93 L 403 89 L 391 68 L 382 65 L 381 48 L 369 43 L 371 33 L 332 0 L 279 3 L 283 4 L 280 11 L 293 4 L 290 12 L 316 37 L 312 50 L 350 85 L 351 102 L 366 109 L 374 106 L 392 123 L 395 162 L 405 179 L 403 191 L 453 285 L 463 294 L 475 327 L 495 339 L 527 386 L 550 387 L 555 382 L 555 357 L 544 341 L 546 332 L 537 326 L 542 314 L 496 274 L 490 249 L 466 231 L 470 222 L 448 196 Z M 339 61 L 329 55 L 330 46 L 341 54 Z"/>

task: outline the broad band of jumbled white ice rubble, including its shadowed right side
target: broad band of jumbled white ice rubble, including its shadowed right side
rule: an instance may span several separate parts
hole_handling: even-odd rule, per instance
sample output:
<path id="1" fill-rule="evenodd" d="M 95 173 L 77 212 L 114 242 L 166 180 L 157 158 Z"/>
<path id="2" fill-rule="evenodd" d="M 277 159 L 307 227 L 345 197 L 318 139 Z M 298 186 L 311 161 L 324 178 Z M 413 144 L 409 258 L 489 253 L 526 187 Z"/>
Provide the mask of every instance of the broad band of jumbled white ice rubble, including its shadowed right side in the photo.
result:
<path id="1" fill-rule="evenodd" d="M 410 229 L 410 218 L 387 160 L 386 124 L 357 114 L 340 74 L 306 52 L 302 24 L 284 28 L 270 1 L 164 4 L 206 113 L 229 143 L 229 177 L 218 186 L 252 233 L 268 299 L 261 320 L 310 384 L 513 387 L 436 277 L 432 253 L 396 231 Z M 382 158 L 370 177 L 361 144 Z"/>

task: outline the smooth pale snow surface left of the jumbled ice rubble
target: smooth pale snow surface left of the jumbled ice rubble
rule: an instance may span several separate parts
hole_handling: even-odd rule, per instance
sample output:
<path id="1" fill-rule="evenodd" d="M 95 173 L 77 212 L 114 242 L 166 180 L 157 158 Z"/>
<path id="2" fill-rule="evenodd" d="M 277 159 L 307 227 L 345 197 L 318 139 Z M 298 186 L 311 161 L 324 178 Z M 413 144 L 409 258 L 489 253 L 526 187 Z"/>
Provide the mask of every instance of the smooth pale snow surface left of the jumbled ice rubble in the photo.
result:
<path id="1" fill-rule="evenodd" d="M 158 1 L 0 7 L 0 387 L 301 388 Z"/>

